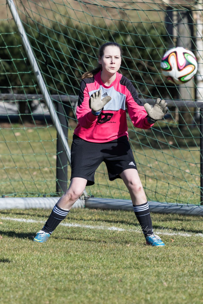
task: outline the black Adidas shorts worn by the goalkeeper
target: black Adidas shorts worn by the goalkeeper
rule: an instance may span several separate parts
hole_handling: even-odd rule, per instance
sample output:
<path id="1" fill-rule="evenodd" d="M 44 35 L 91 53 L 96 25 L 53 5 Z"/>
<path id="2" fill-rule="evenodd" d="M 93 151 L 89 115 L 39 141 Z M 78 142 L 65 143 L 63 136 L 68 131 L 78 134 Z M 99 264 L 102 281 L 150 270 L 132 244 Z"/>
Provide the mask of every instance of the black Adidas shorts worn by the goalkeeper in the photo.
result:
<path id="1" fill-rule="evenodd" d="M 102 162 L 105 162 L 109 180 L 121 178 L 125 169 L 137 170 L 127 136 L 121 136 L 107 143 L 91 143 L 73 135 L 71 146 L 71 179 L 87 179 L 87 186 L 94 185 L 94 174 Z"/>

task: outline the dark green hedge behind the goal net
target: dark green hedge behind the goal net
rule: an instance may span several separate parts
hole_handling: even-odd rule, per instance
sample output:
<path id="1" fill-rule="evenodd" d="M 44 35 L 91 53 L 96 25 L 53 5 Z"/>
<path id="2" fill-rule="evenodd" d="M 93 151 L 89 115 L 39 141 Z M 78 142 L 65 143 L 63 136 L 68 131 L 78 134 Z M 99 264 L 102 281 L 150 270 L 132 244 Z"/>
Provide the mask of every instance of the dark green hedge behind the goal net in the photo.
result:
<path id="1" fill-rule="evenodd" d="M 12 26 L 12 29 L 15 26 Z M 0 90 L 1 92 L 39 92 L 30 63 L 26 58 L 19 33 L 7 23 L 0 24 Z M 78 94 L 77 78 L 97 65 L 98 48 L 107 41 L 116 41 L 123 48 L 121 72 L 145 97 L 165 94 L 160 76 L 161 56 L 167 48 L 165 28 L 142 23 L 118 22 L 106 25 L 73 27 L 53 23 L 50 28 L 25 26 L 37 62 L 51 94 Z"/>

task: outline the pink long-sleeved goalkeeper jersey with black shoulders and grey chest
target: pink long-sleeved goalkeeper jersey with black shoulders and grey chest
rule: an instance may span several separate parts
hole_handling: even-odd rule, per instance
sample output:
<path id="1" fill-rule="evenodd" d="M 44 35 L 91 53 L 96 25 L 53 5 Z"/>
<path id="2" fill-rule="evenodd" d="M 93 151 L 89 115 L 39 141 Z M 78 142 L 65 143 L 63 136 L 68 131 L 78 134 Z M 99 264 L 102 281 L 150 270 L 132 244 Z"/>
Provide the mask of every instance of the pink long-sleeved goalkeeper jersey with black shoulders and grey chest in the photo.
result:
<path id="1" fill-rule="evenodd" d="M 102 109 L 100 116 L 94 116 L 89 107 L 89 98 L 101 90 L 102 98 L 111 100 Z M 101 71 L 91 78 L 81 81 L 79 100 L 76 109 L 78 125 L 74 134 L 94 143 L 104 143 L 121 136 L 128 136 L 126 108 L 135 127 L 149 129 L 153 124 L 147 121 L 147 112 L 138 98 L 138 94 L 122 74 L 116 73 L 116 79 L 107 87 L 101 80 Z"/>

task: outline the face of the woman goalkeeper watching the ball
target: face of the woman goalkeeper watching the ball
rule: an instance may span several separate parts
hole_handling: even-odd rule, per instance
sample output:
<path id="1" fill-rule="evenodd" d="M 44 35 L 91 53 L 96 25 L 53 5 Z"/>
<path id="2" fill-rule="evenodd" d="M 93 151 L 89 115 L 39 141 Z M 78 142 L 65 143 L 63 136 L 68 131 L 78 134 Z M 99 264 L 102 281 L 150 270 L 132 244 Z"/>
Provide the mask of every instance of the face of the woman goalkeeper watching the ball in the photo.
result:
<path id="1" fill-rule="evenodd" d="M 105 47 L 103 56 L 99 56 L 99 64 L 102 65 L 102 73 L 115 74 L 121 66 L 121 51 L 119 47 Z"/>

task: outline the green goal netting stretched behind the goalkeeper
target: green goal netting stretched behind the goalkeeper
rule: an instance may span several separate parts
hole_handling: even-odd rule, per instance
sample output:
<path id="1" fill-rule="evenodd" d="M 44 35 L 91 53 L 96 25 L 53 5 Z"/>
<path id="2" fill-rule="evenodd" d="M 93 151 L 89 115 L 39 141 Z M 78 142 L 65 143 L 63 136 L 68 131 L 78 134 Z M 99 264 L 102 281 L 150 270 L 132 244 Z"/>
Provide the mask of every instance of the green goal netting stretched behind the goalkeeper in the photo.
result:
<path id="1" fill-rule="evenodd" d="M 124 55 L 120 72 L 143 103 L 162 97 L 184 101 L 149 130 L 128 119 L 129 139 L 149 200 L 200 204 L 200 113 L 202 101 L 202 4 L 197 1 L 16 1 L 32 50 L 58 112 L 65 109 L 68 143 L 77 124 L 78 77 L 97 65 L 101 44 L 116 41 Z M 57 195 L 57 133 L 5 0 L 0 0 L 0 195 Z M 198 73 L 184 85 L 160 70 L 165 51 L 192 50 Z M 68 111 L 67 111 L 68 109 Z M 64 115 L 64 114 L 62 114 Z M 59 161 L 60 164 L 60 161 Z M 60 166 L 60 165 L 58 165 Z M 62 171 L 69 164 L 62 164 Z M 129 199 L 120 180 L 109 182 L 104 164 L 89 195 Z"/>

